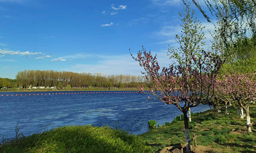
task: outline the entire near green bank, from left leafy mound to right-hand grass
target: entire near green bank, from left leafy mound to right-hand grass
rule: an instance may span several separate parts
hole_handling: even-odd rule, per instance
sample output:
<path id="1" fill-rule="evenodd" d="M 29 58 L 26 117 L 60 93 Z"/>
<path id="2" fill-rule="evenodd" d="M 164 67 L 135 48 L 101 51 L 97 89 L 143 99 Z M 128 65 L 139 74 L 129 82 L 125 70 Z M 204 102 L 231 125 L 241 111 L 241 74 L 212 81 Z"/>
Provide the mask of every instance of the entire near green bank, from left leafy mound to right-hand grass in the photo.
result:
<path id="1" fill-rule="evenodd" d="M 193 114 L 190 137 L 199 136 L 197 145 L 211 148 L 208 152 L 256 152 L 256 130 L 248 134 L 246 120 L 238 118 L 235 108 L 228 111 L 228 115 L 224 109 Z M 255 122 L 256 106 L 252 105 L 250 111 Z M 59 127 L 2 143 L 0 152 L 155 152 L 184 142 L 184 124 L 177 117 L 170 125 L 139 136 L 109 127 Z"/>

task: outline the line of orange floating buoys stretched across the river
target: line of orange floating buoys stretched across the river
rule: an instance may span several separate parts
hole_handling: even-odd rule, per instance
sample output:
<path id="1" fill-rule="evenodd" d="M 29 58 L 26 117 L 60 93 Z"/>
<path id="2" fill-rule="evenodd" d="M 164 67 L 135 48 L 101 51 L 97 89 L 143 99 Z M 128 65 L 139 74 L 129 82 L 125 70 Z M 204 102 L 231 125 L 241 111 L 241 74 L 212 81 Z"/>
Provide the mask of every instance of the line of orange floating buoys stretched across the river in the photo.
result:
<path id="1" fill-rule="evenodd" d="M 87 91 L 87 92 L 74 92 L 74 93 L 40 93 L 40 94 L 1 94 L 3 96 L 35 96 L 35 95 L 70 95 L 70 94 L 127 94 L 127 93 L 138 93 L 138 91 Z M 150 93 L 150 91 L 144 91 L 144 93 Z"/>

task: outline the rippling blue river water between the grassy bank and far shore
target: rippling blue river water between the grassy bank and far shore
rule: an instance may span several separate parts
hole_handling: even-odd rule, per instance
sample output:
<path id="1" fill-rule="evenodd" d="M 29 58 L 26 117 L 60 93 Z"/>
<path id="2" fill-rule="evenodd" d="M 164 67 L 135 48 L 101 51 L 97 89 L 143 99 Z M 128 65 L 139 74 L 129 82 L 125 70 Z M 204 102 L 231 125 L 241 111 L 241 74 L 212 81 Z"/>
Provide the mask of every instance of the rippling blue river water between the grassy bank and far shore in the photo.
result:
<path id="1" fill-rule="evenodd" d="M 163 125 L 181 115 L 175 106 L 152 98 L 134 91 L 0 93 L 0 139 L 14 138 L 16 126 L 25 136 L 59 126 L 88 124 L 108 124 L 141 134 L 148 131 L 149 120 Z M 208 109 L 208 105 L 200 105 L 191 112 Z"/>

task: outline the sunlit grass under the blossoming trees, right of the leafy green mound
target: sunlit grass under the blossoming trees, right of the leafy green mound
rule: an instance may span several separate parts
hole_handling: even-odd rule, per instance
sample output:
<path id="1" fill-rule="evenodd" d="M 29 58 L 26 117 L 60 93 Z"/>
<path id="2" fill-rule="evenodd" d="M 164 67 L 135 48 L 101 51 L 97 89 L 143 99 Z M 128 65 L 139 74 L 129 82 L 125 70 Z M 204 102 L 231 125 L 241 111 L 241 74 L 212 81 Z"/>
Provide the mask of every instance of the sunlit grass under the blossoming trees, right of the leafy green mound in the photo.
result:
<path id="1" fill-rule="evenodd" d="M 248 134 L 246 119 L 239 119 L 235 108 L 228 109 L 229 115 L 216 109 L 196 113 L 190 123 L 190 138 L 193 134 L 197 145 L 213 148 L 211 152 L 256 152 L 256 130 Z M 251 121 L 256 121 L 256 106 L 251 105 Z M 168 113 L 168 112 L 167 112 Z M 180 145 L 185 142 L 184 124 L 177 118 L 170 126 L 162 126 L 141 134 L 151 151 L 155 152 L 166 146 Z M 192 143 L 193 144 L 193 143 Z"/>

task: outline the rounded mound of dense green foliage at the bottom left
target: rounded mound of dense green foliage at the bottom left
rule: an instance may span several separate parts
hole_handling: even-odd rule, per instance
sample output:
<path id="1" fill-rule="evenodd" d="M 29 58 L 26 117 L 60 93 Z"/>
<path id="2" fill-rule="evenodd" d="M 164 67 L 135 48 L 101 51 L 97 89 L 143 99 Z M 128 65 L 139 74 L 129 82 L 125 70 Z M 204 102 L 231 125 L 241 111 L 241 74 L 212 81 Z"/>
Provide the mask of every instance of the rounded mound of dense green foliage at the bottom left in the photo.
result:
<path id="1" fill-rule="evenodd" d="M 148 152 L 141 138 L 109 127 L 65 126 L 11 140 L 0 152 Z"/>

